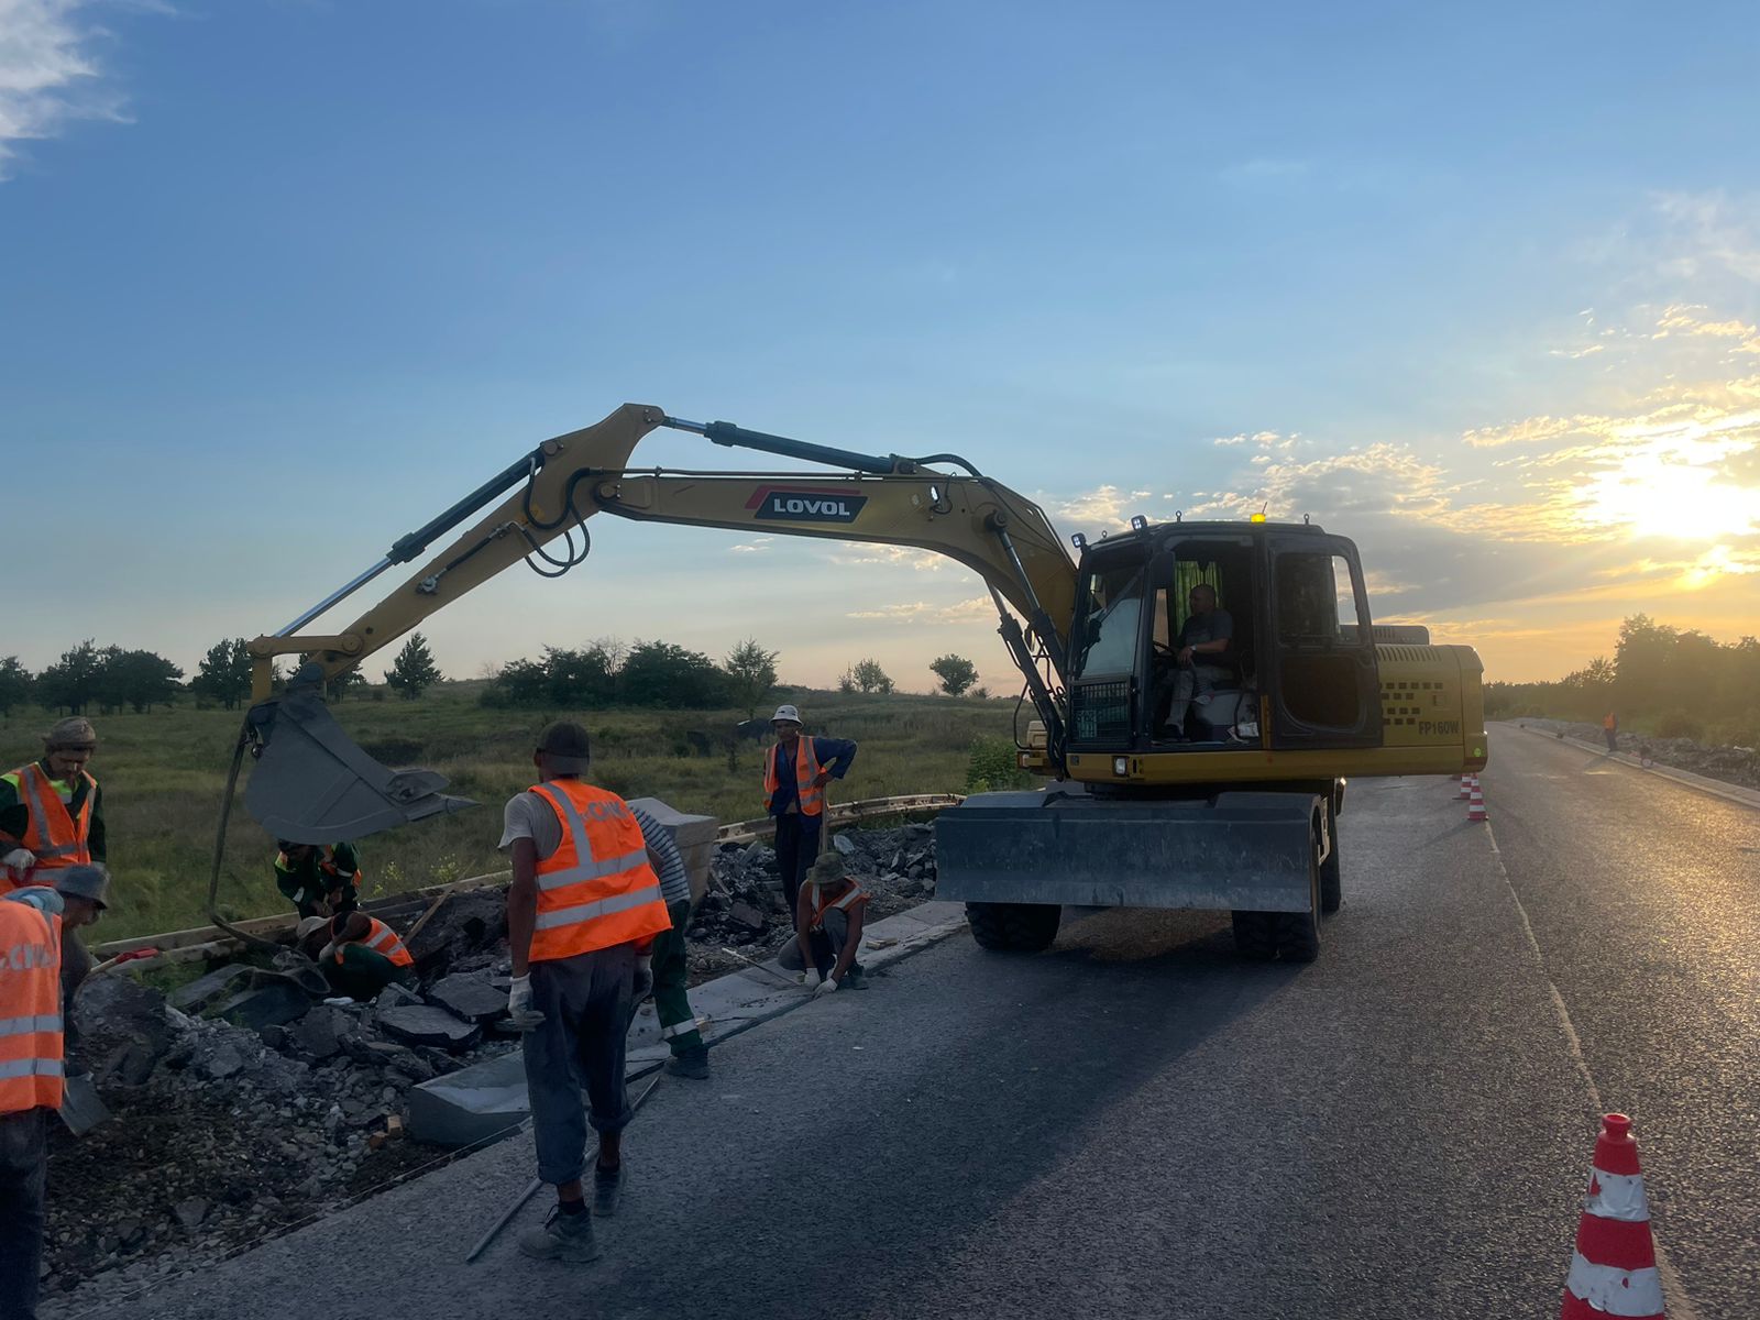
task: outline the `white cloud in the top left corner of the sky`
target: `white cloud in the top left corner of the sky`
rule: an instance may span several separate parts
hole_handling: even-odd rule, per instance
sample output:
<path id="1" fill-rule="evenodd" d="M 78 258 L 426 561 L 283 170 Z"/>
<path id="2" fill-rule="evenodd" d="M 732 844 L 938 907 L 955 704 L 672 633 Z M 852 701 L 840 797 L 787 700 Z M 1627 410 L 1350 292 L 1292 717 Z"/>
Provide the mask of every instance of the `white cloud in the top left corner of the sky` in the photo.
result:
<path id="1" fill-rule="evenodd" d="M 16 143 L 55 137 L 74 120 L 125 121 L 92 49 L 106 33 L 83 21 L 92 9 L 92 0 L 0 0 L 0 180 Z"/>

